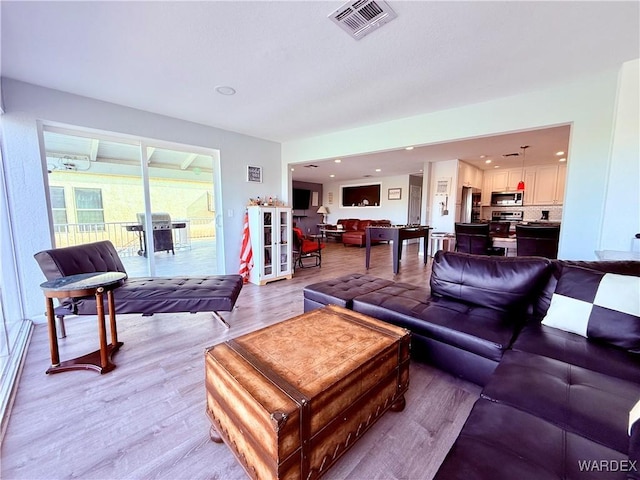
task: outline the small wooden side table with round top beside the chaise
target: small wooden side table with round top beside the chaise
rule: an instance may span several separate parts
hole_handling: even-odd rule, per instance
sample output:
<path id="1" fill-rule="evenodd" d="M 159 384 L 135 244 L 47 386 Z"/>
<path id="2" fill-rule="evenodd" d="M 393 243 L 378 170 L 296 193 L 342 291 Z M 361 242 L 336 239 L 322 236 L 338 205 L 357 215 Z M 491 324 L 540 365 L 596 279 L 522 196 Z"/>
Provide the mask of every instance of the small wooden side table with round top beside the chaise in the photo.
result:
<path id="1" fill-rule="evenodd" d="M 47 323 L 49 325 L 49 348 L 51 350 L 51 366 L 46 373 L 58 373 L 67 370 L 95 370 L 100 373 L 107 373 L 116 368 L 115 364 L 111 362 L 111 356 L 118 351 L 123 343 L 118 341 L 113 290 L 122 285 L 126 277 L 126 274 L 121 272 L 80 273 L 50 280 L 40 285 L 47 299 Z M 111 343 L 109 345 L 107 345 L 104 319 L 104 292 L 107 292 L 109 323 L 111 326 Z M 53 299 L 86 297 L 89 295 L 96 296 L 100 348 L 81 357 L 60 362 Z"/>

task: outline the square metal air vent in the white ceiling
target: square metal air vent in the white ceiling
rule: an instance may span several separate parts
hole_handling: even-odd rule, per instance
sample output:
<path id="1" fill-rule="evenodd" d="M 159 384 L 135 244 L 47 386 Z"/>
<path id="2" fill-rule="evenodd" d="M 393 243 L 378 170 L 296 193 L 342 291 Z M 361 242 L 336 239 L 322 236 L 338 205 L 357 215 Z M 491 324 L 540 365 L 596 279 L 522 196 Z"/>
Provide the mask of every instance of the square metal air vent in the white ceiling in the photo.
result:
<path id="1" fill-rule="evenodd" d="M 360 40 L 396 17 L 396 12 L 382 0 L 347 2 L 329 14 L 333 23 L 356 40 Z"/>

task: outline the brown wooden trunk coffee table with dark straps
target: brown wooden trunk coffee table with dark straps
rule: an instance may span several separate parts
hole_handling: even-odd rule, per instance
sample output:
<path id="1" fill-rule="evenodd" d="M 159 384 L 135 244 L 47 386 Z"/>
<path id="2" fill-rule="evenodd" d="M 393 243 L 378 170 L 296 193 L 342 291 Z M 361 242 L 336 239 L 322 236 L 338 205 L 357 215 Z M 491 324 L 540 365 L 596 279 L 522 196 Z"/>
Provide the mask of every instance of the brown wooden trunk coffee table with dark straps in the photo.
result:
<path id="1" fill-rule="evenodd" d="M 328 306 L 210 347 L 207 414 L 252 478 L 317 478 L 404 408 L 409 332 Z"/>

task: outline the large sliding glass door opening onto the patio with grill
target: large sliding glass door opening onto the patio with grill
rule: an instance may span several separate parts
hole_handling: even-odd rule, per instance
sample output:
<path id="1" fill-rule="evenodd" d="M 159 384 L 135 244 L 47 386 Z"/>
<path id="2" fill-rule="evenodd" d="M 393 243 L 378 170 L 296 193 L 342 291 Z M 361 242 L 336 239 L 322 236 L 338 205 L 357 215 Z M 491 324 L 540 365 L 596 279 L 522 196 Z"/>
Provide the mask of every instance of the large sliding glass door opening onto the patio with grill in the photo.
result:
<path id="1" fill-rule="evenodd" d="M 54 127 L 44 145 L 56 247 L 109 240 L 131 276 L 218 272 L 216 152 Z"/>

